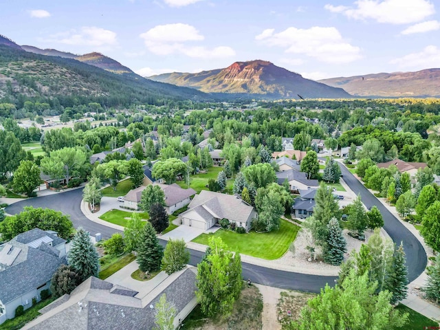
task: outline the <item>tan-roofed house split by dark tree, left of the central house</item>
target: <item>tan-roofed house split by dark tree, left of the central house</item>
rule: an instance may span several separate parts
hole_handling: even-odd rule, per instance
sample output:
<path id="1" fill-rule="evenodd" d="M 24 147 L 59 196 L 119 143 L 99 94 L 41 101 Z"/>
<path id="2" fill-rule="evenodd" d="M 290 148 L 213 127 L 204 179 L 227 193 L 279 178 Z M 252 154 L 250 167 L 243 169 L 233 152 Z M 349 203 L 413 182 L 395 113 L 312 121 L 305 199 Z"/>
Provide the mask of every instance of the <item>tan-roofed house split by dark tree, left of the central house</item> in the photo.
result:
<path id="1" fill-rule="evenodd" d="M 178 184 L 156 184 L 159 186 L 165 195 L 165 210 L 168 214 L 172 214 L 176 210 L 187 206 L 191 201 L 191 196 L 196 194 L 196 191 L 192 188 L 184 189 L 180 188 Z M 135 189 L 131 189 L 124 197 L 124 206 L 137 210 L 139 208 L 138 203 L 142 197 L 142 191 L 146 186 L 140 186 Z"/>

